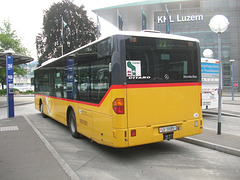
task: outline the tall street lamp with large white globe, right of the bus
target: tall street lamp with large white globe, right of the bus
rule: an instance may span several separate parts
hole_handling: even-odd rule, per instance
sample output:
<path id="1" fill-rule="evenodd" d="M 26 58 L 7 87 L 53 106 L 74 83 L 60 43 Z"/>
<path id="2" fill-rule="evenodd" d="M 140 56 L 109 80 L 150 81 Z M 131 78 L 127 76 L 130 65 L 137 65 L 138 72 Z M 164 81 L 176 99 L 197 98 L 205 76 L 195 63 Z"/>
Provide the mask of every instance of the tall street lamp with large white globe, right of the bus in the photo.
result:
<path id="1" fill-rule="evenodd" d="M 221 34 L 227 30 L 228 19 L 223 15 L 215 15 L 209 22 L 210 29 L 218 34 L 218 59 L 219 59 L 219 88 L 218 88 L 218 124 L 217 134 L 221 134 L 221 114 L 222 114 L 222 52 Z"/>

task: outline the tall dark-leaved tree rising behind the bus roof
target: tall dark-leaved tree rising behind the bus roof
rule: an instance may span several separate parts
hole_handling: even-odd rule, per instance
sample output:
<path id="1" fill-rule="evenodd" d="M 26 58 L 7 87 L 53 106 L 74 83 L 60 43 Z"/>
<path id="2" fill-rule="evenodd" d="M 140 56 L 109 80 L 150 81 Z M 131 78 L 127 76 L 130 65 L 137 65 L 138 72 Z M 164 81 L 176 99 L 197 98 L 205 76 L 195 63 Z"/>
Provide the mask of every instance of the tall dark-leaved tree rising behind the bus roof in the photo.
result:
<path id="1" fill-rule="evenodd" d="M 44 12 L 43 30 L 36 37 L 39 65 L 62 55 L 62 18 L 66 22 L 64 54 L 96 39 L 97 27 L 87 17 L 84 6 L 70 0 L 54 3 Z"/>

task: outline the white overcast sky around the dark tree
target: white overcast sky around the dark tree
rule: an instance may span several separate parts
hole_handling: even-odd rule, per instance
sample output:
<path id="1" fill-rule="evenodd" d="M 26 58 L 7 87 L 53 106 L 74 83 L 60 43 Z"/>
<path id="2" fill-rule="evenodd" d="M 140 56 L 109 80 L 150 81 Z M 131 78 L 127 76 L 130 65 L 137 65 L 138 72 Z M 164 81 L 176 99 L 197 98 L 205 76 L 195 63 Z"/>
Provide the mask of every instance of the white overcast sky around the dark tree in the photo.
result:
<path id="1" fill-rule="evenodd" d="M 41 33 L 43 11 L 61 0 L 1 0 L 0 26 L 4 20 L 9 20 L 12 30 L 22 39 L 23 45 L 31 52 L 36 60 L 35 37 Z M 91 13 L 93 9 L 108 7 L 118 4 L 126 4 L 141 0 L 74 0 L 74 4 L 84 5 L 88 10 L 88 16 L 96 21 L 96 15 Z M 106 22 L 100 19 L 101 34 L 109 32 Z"/>

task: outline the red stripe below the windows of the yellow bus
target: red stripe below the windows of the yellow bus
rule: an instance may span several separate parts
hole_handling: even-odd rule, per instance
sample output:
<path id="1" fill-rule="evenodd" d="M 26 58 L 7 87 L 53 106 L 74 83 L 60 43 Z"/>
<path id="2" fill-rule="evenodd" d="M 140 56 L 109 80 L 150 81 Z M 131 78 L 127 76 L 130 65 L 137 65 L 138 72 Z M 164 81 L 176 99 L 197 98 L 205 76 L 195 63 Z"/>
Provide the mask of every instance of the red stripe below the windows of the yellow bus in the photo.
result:
<path id="1" fill-rule="evenodd" d="M 181 87 L 181 86 L 201 86 L 202 83 L 200 82 L 194 82 L 194 83 L 161 83 L 161 84 L 128 84 L 128 85 L 112 85 L 106 94 L 103 96 L 102 100 L 100 101 L 99 104 L 95 103 L 90 103 L 90 102 L 84 102 L 84 101 L 78 101 L 78 100 L 72 100 L 72 99 L 65 99 L 65 98 L 59 98 L 59 97 L 54 97 L 54 96 L 47 96 L 47 95 L 42 95 L 42 94 L 36 94 L 39 96 L 43 97 L 49 97 L 52 99 L 58 99 L 58 100 L 64 100 L 68 102 L 74 102 L 74 103 L 80 103 L 80 104 L 85 104 L 89 106 L 95 106 L 95 107 L 100 107 L 103 101 L 106 99 L 108 94 L 112 89 L 126 89 L 126 88 L 155 88 L 155 87 Z"/>

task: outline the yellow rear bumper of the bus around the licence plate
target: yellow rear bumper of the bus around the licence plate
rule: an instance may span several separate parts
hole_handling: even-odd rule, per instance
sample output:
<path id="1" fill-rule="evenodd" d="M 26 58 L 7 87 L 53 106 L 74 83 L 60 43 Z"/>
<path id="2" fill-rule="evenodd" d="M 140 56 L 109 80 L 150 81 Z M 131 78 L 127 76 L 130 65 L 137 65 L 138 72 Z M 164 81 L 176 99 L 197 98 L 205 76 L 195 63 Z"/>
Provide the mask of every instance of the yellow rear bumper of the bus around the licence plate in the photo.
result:
<path id="1" fill-rule="evenodd" d="M 113 146 L 117 148 L 138 146 L 161 142 L 164 140 L 164 134 L 159 133 L 159 127 L 176 125 L 177 130 L 172 132 L 173 139 L 179 139 L 186 136 L 201 134 L 203 129 L 203 119 L 194 119 L 181 121 L 174 124 L 159 124 L 145 127 L 115 129 Z M 131 131 L 136 130 L 136 136 L 131 136 Z M 169 133 L 168 133 L 169 134 Z"/>

